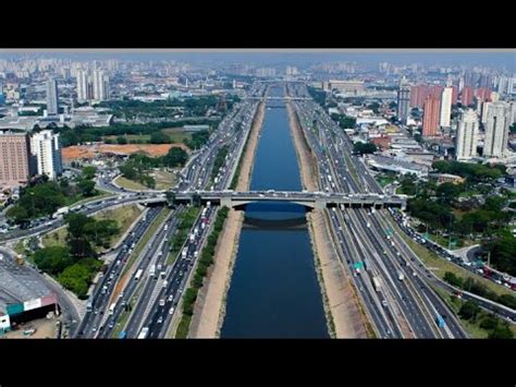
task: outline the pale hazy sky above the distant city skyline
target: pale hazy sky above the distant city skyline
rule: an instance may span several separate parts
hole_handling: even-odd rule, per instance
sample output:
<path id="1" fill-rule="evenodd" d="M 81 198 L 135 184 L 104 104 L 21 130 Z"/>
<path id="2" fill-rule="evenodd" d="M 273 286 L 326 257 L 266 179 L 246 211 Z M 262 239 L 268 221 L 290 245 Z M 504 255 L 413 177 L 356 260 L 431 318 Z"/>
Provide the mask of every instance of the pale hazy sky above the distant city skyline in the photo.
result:
<path id="1" fill-rule="evenodd" d="M 157 52 L 142 50 L 127 51 L 9 51 L 0 49 L 0 58 L 20 58 L 26 55 L 45 58 L 70 58 L 75 60 L 125 59 L 125 60 L 177 60 L 186 62 L 248 62 L 256 64 L 311 64 L 322 61 L 357 61 L 360 63 L 390 62 L 395 64 L 421 63 L 441 65 L 488 65 L 516 69 L 516 50 L 460 52 L 457 50 L 407 52 L 406 50 L 381 50 L 380 52 Z"/>

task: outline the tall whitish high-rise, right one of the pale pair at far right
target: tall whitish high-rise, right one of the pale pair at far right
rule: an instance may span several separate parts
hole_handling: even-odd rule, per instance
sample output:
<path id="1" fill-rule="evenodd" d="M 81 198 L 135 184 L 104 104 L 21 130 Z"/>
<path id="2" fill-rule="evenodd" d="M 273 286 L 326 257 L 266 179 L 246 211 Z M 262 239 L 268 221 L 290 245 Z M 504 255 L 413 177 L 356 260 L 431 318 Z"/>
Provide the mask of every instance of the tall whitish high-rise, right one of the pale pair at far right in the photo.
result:
<path id="1" fill-rule="evenodd" d="M 491 102 L 486 124 L 483 156 L 503 157 L 507 148 L 511 106 L 507 102 Z"/>

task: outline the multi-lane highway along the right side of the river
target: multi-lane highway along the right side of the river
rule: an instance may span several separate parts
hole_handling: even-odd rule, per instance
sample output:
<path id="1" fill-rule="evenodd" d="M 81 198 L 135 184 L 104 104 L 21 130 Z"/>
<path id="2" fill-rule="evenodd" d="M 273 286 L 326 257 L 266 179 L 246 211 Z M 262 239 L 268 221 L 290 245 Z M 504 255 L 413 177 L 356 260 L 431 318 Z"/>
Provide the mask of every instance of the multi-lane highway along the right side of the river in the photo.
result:
<path id="1" fill-rule="evenodd" d="M 288 87 L 291 93 L 307 96 L 304 85 Z M 352 154 L 352 144 L 344 132 L 312 100 L 292 101 L 307 142 L 318 161 L 319 185 L 325 192 L 377 193 L 381 188 L 366 167 Z M 391 233 L 372 220 L 389 216 L 385 210 L 336 207 L 330 215 L 333 233 L 342 245 L 342 262 L 353 274 L 355 286 L 380 337 L 451 338 L 466 337 L 444 302 L 426 286 L 406 264 L 406 250 L 396 250 Z M 372 211 L 372 210 L 371 210 Z M 327 214 L 329 210 L 325 211 Z M 392 232 L 393 234 L 393 232 Z M 360 261 L 358 261 L 360 259 Z M 367 264 L 365 264 L 367 259 Z M 408 261 L 407 261 L 408 259 Z M 364 270 L 360 267 L 368 266 Z M 403 276 L 401 276 L 403 274 Z M 357 279 L 367 277 L 367 279 Z M 379 297 L 370 287 L 372 277 L 381 280 Z M 444 327 L 438 317 L 446 317 Z"/>

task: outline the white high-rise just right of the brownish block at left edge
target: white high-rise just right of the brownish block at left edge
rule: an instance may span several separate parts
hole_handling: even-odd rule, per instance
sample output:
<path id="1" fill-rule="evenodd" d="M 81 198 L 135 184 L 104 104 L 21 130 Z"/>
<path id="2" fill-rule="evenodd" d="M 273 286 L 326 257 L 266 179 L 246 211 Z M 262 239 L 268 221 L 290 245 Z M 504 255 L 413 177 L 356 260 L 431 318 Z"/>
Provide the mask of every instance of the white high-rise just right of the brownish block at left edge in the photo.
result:
<path id="1" fill-rule="evenodd" d="M 59 133 L 45 130 L 33 134 L 30 138 L 30 152 L 36 158 L 38 174 L 46 174 L 54 180 L 63 171 L 61 142 Z"/>

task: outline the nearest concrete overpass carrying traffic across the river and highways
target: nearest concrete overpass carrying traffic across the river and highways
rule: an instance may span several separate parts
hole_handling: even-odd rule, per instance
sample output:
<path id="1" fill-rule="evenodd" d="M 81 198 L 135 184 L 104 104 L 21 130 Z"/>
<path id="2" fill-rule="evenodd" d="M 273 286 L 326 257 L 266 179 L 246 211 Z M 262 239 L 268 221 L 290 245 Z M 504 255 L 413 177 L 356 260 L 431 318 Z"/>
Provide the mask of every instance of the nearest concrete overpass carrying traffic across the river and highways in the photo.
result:
<path id="1" fill-rule="evenodd" d="M 406 198 L 400 195 L 348 194 L 348 193 L 325 193 L 325 192 L 297 192 L 297 191 L 183 191 L 174 192 L 176 203 L 194 203 L 200 201 L 201 204 L 210 202 L 213 205 L 226 206 L 230 208 L 243 208 L 250 203 L 295 203 L 308 209 L 331 208 L 341 206 L 344 208 L 386 208 L 398 207 L 404 209 Z"/>

